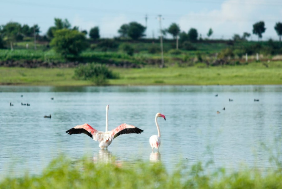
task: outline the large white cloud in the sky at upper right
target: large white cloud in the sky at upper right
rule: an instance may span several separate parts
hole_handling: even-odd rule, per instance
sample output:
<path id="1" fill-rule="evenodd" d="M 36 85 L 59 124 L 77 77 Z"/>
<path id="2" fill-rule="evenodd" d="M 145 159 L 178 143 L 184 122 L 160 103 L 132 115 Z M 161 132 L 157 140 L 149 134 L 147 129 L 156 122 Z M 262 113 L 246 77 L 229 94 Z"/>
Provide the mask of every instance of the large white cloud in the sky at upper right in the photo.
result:
<path id="1" fill-rule="evenodd" d="M 209 28 L 212 28 L 213 38 L 230 39 L 233 34 L 252 33 L 253 24 L 260 20 L 269 19 L 265 21 L 265 25 L 273 28 L 272 25 L 275 24 L 273 18 L 279 18 L 281 12 L 271 12 L 271 7 L 264 6 L 266 3 L 266 0 L 259 3 L 256 0 L 227 0 L 219 9 L 189 13 L 181 17 L 179 25 L 185 32 L 190 28 L 196 28 L 204 38 Z M 275 36 L 273 29 L 267 29 L 265 36 L 267 35 Z"/>

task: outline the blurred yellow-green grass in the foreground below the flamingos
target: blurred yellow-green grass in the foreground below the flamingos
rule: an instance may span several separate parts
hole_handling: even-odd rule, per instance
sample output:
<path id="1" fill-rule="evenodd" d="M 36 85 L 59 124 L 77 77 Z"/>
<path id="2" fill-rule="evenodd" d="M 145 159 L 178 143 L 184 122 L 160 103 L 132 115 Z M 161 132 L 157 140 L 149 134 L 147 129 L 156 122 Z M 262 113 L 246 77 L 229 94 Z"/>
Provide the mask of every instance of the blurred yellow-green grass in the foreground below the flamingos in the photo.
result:
<path id="1" fill-rule="evenodd" d="M 259 171 L 220 169 L 206 173 L 201 163 L 191 167 L 179 165 L 168 173 L 162 163 L 125 162 L 97 163 L 81 160 L 79 163 L 59 158 L 38 176 L 26 173 L 22 177 L 7 177 L 0 188 L 282 188 L 281 169 Z"/>

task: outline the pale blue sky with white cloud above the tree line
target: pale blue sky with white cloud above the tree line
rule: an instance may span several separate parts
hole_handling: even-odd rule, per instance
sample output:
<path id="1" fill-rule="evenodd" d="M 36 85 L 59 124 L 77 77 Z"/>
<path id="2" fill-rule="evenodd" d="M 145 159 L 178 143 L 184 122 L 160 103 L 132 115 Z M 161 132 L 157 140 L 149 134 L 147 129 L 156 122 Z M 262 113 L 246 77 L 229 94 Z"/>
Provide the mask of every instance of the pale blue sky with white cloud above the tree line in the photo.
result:
<path id="1" fill-rule="evenodd" d="M 161 27 L 172 23 L 188 32 L 195 28 L 202 38 L 210 28 L 212 39 L 231 39 L 234 34 L 252 34 L 253 24 L 264 21 L 263 40 L 278 40 L 274 25 L 282 22 L 281 0 L 0 0 L 0 25 L 18 22 L 38 24 L 41 35 L 54 25 L 54 18 L 68 19 L 71 26 L 100 29 L 102 38 L 118 36 L 122 24 L 138 22 L 146 26 L 148 38 L 159 36 Z M 170 34 L 167 38 L 171 38 Z M 257 40 L 251 35 L 251 40 Z"/>

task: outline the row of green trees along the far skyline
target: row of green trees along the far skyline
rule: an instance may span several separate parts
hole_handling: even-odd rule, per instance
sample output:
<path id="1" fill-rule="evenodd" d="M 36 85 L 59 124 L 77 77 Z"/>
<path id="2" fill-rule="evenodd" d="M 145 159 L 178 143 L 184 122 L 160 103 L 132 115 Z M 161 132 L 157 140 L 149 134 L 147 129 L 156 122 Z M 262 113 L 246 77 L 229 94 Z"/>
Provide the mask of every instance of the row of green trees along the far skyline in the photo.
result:
<path id="1" fill-rule="evenodd" d="M 274 26 L 275 31 L 281 41 L 282 36 L 282 23 L 278 22 Z M 264 21 L 259 21 L 253 24 L 253 34 L 258 35 L 258 39 L 262 38 L 262 34 L 265 32 Z M 146 27 L 137 22 L 130 22 L 123 24 L 118 29 L 120 38 L 128 38 L 138 40 L 145 36 Z M 193 46 L 190 42 L 196 42 L 201 40 L 201 34 L 198 34 L 197 29 L 191 28 L 188 32 L 182 31 L 180 26 L 176 23 L 170 24 L 167 29 L 163 29 L 162 34 L 172 35 L 176 40 L 176 49 L 178 49 L 178 43 L 184 46 L 186 50 L 193 50 Z M 46 35 L 40 36 L 40 27 L 35 24 L 29 26 L 27 24 L 21 25 L 17 22 L 9 22 L 0 26 L 0 48 L 4 48 L 4 42 L 10 44 L 11 50 L 13 50 L 13 42 L 22 41 L 24 37 L 34 37 L 34 40 L 42 38 L 43 40 L 50 40 L 50 45 L 54 47 L 57 52 L 60 52 L 63 56 L 67 55 L 79 55 L 79 53 L 89 47 L 86 39 L 88 32 L 86 30 L 79 31 L 77 26 L 72 27 L 67 19 L 54 19 L 54 25 L 50 26 Z M 208 39 L 212 36 L 213 30 L 210 28 L 206 34 Z M 234 34 L 233 40 L 247 40 L 251 34 L 244 32 L 242 36 Z M 94 26 L 89 31 L 89 37 L 92 40 L 100 38 L 100 31 L 98 26 Z M 179 38 L 179 39 L 178 39 Z M 128 47 L 124 47 L 128 50 Z M 132 50 L 128 50 L 132 51 Z"/>

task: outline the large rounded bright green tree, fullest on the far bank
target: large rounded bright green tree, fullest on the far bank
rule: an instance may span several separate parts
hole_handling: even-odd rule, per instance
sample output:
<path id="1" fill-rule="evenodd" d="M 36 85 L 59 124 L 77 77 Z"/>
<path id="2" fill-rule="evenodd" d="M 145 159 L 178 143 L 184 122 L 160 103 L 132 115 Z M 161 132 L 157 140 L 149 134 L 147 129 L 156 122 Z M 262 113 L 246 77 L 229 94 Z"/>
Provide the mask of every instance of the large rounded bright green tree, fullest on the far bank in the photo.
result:
<path id="1" fill-rule="evenodd" d="M 85 35 L 77 30 L 70 29 L 56 30 L 50 45 L 64 57 L 68 55 L 77 56 L 88 47 Z"/>

